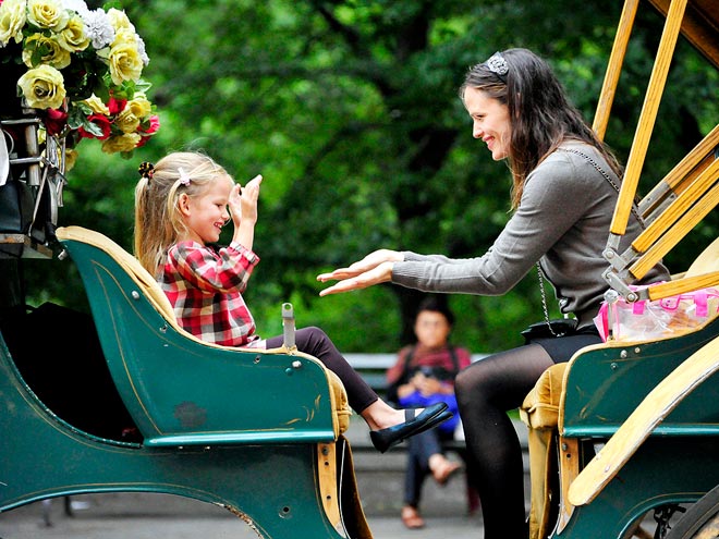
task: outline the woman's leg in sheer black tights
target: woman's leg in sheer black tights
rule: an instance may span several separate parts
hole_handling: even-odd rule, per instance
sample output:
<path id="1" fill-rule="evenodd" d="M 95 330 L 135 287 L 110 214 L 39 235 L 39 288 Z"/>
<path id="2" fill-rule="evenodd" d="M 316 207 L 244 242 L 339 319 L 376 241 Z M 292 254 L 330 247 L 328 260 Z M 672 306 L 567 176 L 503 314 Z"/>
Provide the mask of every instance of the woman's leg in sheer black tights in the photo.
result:
<path id="1" fill-rule="evenodd" d="M 553 362 L 538 344 L 493 354 L 462 370 L 454 382 L 473 485 L 482 501 L 485 539 L 527 539 L 522 446 L 507 415 L 521 406 Z"/>

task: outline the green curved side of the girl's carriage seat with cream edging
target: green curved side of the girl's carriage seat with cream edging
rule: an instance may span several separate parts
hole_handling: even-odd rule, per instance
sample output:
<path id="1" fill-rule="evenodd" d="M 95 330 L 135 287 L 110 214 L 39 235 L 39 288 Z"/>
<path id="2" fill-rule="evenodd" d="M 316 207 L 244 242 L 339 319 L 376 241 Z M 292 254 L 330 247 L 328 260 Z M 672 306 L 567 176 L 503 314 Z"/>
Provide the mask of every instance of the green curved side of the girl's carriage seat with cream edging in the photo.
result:
<path id="1" fill-rule="evenodd" d="M 178 326 L 155 279 L 112 241 L 80 226 L 57 236 L 146 445 L 329 442 L 346 430 L 345 390 L 317 358 L 205 343 Z"/>

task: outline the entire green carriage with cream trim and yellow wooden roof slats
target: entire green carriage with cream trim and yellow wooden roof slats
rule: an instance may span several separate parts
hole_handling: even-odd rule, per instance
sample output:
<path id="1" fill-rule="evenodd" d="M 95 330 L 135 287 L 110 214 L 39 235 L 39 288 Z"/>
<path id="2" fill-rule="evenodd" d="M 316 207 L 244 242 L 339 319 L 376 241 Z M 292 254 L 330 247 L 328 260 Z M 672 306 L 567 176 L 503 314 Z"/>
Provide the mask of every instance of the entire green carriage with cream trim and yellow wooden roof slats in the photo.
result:
<path id="1" fill-rule="evenodd" d="M 719 282 L 712 245 L 675 280 L 642 293 L 630 286 L 716 206 L 719 125 L 642 199 L 648 226 L 627 252 L 616 250 L 680 34 L 719 69 L 719 2 L 626 0 L 594 124 L 600 136 L 638 9 L 658 10 L 666 25 L 606 248 L 608 285 L 630 302 Z M 292 538 L 297 529 L 371 537 L 343 436 L 344 389 L 293 347 L 289 315 L 281 348 L 208 345 L 178 327 L 151 275 L 101 234 L 31 226 L 0 240 L 3 258 L 16 264 L 56 252 L 77 266 L 93 313 L 77 331 L 98 338 L 106 396 L 117 396 L 115 409 L 101 411 L 108 433 L 82 414 L 63 414 L 40 389 L 52 380 L 32 379 L 27 368 L 52 354 L 38 320 L 51 327 L 62 314 L 5 316 L 0 511 L 76 493 L 157 492 L 227 507 L 264 538 Z M 643 537 L 651 513 L 655 537 L 718 537 L 718 334 L 719 320 L 710 319 L 675 338 L 609 341 L 546 372 L 522 408 L 533 539 Z"/>

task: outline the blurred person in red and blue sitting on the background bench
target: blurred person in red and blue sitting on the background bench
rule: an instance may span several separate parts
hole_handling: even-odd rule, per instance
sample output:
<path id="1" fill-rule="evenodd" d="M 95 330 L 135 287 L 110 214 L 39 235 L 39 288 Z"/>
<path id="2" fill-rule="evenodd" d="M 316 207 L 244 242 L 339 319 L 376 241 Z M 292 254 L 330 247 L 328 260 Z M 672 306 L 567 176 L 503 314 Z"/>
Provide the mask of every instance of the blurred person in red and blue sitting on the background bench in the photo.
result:
<path id="1" fill-rule="evenodd" d="M 454 316 L 444 296 L 427 296 L 421 304 L 414 322 L 416 343 L 404 346 L 398 360 L 387 371 L 387 400 L 400 407 L 427 406 L 446 402 L 454 417 L 436 429 L 407 440 L 407 468 L 404 476 L 402 523 L 410 529 L 423 528 L 419 513 L 422 487 L 431 474 L 444 486 L 462 465 L 449 460 L 442 442 L 452 440 L 460 422 L 454 397 L 454 377 L 468 366 L 472 356 L 466 348 L 449 343 Z M 471 489 L 471 487 L 467 487 Z M 476 509 L 476 493 L 470 495 L 470 510 Z M 474 507 L 472 500 L 475 500 Z"/>

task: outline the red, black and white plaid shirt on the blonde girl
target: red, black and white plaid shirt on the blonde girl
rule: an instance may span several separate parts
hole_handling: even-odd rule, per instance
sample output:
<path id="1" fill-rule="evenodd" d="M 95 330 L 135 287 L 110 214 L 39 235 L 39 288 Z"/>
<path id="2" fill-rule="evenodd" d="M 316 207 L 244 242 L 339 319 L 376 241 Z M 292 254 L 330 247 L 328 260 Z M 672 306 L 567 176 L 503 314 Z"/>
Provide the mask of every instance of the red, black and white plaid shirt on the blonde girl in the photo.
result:
<path id="1" fill-rule="evenodd" d="M 259 339 L 242 297 L 258 262 L 237 243 L 215 250 L 181 242 L 168 250 L 158 281 L 183 329 L 203 341 L 243 346 Z"/>

